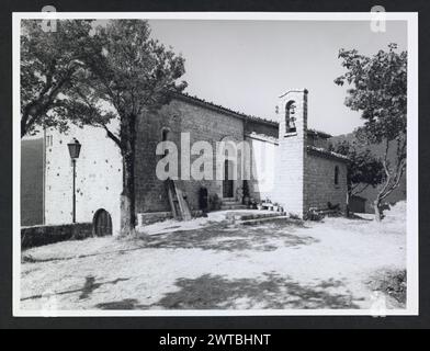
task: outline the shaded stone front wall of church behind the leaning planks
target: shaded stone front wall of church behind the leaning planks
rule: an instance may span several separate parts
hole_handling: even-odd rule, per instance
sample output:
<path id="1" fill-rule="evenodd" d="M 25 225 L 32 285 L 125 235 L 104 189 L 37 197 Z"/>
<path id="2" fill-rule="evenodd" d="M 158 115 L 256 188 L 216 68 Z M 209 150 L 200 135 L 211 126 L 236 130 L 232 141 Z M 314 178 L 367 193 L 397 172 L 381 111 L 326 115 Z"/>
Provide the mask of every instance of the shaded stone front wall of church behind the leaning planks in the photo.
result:
<path id="1" fill-rule="evenodd" d="M 169 131 L 168 140 L 178 146 L 179 171 L 181 179 L 182 161 L 181 133 L 190 133 L 190 144 L 207 141 L 213 148 L 215 160 L 216 143 L 223 139 L 241 141 L 244 139 L 244 121 L 210 109 L 195 101 L 174 99 L 169 105 L 163 106 L 157 114 L 147 114 L 139 118 L 136 141 L 136 211 L 162 212 L 170 211 L 166 185 L 156 174 L 157 162 L 161 156 L 156 155 L 158 143 L 161 141 L 162 129 Z M 197 155 L 191 157 L 192 163 Z M 184 163 L 185 165 L 185 163 Z M 240 162 L 237 165 L 240 170 Z M 213 162 L 213 177 L 216 162 Z M 210 194 L 218 194 L 223 197 L 222 180 L 179 180 L 177 184 L 186 192 L 191 210 L 199 210 L 199 190 L 205 186 Z M 241 186 L 241 181 L 235 181 L 235 190 Z"/>

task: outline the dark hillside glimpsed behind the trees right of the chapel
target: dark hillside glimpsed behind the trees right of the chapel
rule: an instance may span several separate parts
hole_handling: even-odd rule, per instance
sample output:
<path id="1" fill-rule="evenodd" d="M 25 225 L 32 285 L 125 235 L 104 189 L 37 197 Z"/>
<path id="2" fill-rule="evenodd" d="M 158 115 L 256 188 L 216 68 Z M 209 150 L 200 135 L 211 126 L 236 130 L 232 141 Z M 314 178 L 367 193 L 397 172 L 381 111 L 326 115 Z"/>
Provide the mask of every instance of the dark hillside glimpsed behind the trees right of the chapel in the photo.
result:
<path id="1" fill-rule="evenodd" d="M 343 141 L 343 140 L 348 140 L 348 141 L 352 143 L 355 140 L 355 137 L 352 133 L 350 133 L 350 134 L 343 134 L 343 135 L 339 135 L 339 136 L 335 136 L 335 137 L 330 138 L 330 143 L 332 143 L 332 144 Z M 382 157 L 384 154 L 384 147 L 381 144 L 380 145 L 370 145 L 367 147 L 375 156 Z M 395 148 L 394 147 L 391 147 L 391 152 L 388 154 L 388 159 L 389 160 L 395 159 Z M 360 196 L 365 197 L 367 200 L 366 204 L 365 204 L 367 213 L 374 212 L 373 202 L 376 199 L 377 190 L 378 190 L 378 186 L 376 186 L 376 188 L 369 186 L 362 193 L 359 194 Z M 385 202 L 394 204 L 394 203 L 397 203 L 398 201 L 401 201 L 401 200 L 406 200 L 406 174 L 404 174 L 404 177 L 400 181 L 400 185 L 385 199 Z"/>

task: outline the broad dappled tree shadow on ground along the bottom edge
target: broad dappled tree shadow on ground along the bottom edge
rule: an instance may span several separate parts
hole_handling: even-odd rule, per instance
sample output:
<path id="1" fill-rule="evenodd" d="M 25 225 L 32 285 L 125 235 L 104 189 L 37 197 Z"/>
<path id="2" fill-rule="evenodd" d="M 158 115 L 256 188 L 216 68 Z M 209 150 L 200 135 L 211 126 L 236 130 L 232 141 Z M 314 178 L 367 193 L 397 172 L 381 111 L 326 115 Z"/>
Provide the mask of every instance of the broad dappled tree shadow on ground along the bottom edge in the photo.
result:
<path id="1" fill-rule="evenodd" d="M 101 309 L 306 309 L 360 308 L 350 293 L 335 293 L 341 281 L 328 280 L 304 286 L 274 273 L 264 279 L 226 279 L 204 274 L 197 279 L 179 279 L 179 291 L 166 294 L 151 305 L 123 299 L 95 305 Z"/>

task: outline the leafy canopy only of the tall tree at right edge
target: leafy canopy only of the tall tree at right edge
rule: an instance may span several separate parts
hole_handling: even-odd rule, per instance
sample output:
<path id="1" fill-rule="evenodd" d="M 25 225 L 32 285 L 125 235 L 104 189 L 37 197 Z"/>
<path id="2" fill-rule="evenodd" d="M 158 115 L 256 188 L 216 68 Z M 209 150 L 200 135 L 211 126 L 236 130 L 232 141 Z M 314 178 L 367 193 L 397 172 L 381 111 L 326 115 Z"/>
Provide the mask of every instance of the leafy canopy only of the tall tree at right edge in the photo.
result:
<path id="1" fill-rule="evenodd" d="M 365 123 L 360 133 L 372 144 L 406 134 L 407 53 L 396 49 L 396 44 L 389 44 L 388 52 L 380 50 L 373 57 L 355 49 L 339 52 L 347 72 L 335 82 L 350 86 L 344 103 L 361 111 Z"/>

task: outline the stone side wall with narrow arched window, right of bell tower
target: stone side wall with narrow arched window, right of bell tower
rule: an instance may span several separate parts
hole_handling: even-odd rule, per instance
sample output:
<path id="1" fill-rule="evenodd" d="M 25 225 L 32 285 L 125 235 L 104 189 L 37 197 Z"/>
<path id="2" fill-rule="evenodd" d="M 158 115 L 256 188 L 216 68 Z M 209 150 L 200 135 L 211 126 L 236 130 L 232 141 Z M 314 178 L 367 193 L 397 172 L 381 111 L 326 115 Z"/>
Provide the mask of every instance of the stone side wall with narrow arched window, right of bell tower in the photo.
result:
<path id="1" fill-rule="evenodd" d="M 338 184 L 335 184 L 335 167 L 339 167 Z M 327 203 L 340 205 L 344 211 L 347 201 L 347 163 L 320 157 L 306 155 L 304 179 L 304 213 L 309 207 L 326 210 Z"/>

